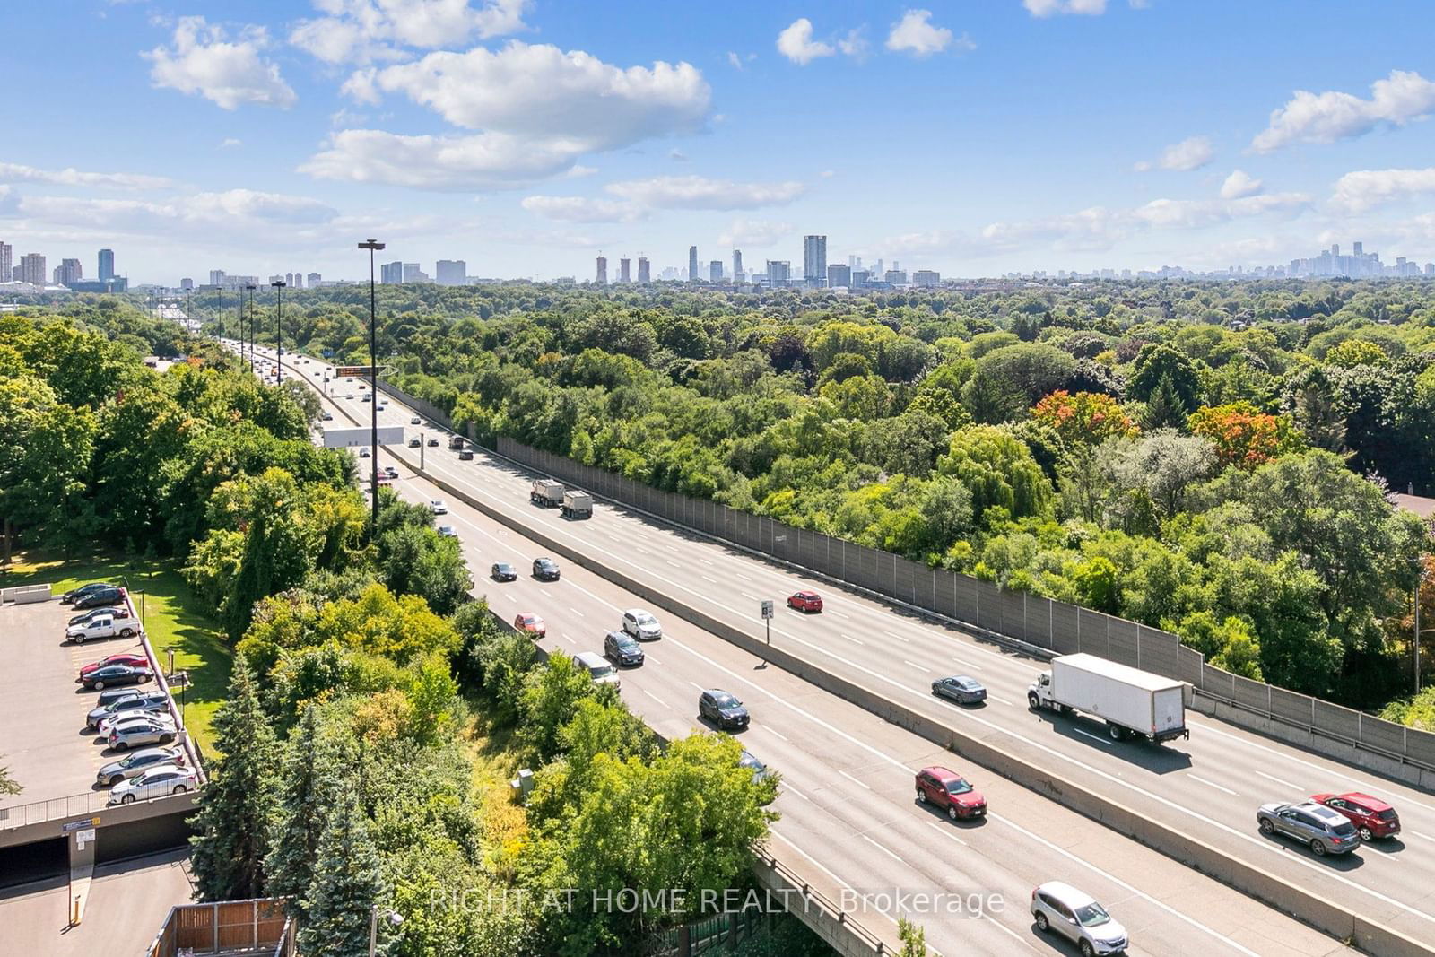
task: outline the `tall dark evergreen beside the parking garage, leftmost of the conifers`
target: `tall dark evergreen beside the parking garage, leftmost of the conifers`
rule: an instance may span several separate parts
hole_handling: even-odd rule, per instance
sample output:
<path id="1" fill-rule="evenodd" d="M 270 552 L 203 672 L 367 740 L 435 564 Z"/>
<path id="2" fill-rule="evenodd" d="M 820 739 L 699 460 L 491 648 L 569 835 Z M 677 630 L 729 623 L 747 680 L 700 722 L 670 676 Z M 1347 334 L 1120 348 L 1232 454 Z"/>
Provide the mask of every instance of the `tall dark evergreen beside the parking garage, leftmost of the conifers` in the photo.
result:
<path id="1" fill-rule="evenodd" d="M 210 760 L 210 783 L 191 821 L 198 831 L 189 838 L 195 890 L 204 901 L 260 897 L 278 746 L 244 656 L 234 660 L 230 699 L 214 713 L 214 733 L 224 753 Z"/>

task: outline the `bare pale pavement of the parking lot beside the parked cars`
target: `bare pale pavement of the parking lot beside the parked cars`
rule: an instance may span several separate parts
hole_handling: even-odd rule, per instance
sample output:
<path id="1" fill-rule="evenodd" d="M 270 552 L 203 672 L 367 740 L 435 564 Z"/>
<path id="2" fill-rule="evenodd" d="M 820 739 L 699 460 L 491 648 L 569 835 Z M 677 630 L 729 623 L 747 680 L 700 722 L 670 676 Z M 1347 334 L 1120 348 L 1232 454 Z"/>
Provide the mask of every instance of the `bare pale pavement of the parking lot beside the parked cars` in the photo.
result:
<path id="1" fill-rule="evenodd" d="M 23 788 L 0 798 L 0 828 L 24 824 L 26 816 L 33 819 L 34 811 L 23 806 L 40 801 L 92 793 L 93 806 L 105 803 L 108 788 L 96 786 L 95 772 L 118 755 L 86 730 L 85 716 L 99 694 L 82 690 L 75 676 L 89 661 L 142 649 L 138 638 L 67 644 L 65 628 L 75 614 L 59 598 L 0 607 L 0 727 L 6 729 L 0 766 L 9 768 L 10 778 Z M 151 689 L 154 683 L 138 687 Z"/>

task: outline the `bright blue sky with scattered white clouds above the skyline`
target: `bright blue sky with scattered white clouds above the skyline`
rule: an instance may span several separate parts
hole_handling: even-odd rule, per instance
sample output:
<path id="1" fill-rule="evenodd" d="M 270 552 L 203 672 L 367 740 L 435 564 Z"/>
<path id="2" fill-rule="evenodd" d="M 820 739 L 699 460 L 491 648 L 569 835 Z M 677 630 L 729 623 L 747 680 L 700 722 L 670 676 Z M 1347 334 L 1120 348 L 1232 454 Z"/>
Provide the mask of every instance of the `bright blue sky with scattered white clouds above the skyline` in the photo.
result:
<path id="1" fill-rule="evenodd" d="M 680 11 L 679 11 L 680 10 Z M 1435 260 L 1424 1 L 76 0 L 7 14 L 0 241 L 135 281 L 643 254 Z M 17 39 L 23 37 L 23 43 Z M 634 267 L 636 268 L 636 267 Z"/>

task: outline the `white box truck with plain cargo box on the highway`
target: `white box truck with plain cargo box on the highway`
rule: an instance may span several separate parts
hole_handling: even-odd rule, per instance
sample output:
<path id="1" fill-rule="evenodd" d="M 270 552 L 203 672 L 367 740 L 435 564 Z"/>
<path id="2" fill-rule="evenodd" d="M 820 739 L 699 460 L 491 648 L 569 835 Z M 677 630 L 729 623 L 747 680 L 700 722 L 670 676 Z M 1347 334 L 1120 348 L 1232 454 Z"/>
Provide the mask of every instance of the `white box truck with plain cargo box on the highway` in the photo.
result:
<path id="1" fill-rule="evenodd" d="M 1026 689 L 1033 709 L 1082 712 L 1106 722 L 1112 740 L 1126 735 L 1152 745 L 1190 737 L 1185 683 L 1116 664 L 1095 654 L 1062 654 Z"/>

